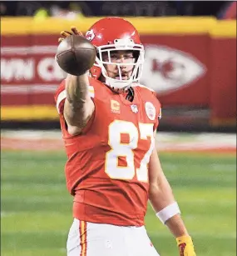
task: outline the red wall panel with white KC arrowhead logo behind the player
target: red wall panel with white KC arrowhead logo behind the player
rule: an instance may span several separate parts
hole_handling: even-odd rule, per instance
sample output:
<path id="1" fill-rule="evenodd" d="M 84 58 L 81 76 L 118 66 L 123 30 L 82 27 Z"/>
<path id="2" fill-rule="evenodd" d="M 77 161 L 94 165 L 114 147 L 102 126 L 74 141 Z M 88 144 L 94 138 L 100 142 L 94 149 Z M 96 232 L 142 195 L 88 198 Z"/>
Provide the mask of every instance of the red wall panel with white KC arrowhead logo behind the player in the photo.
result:
<path id="1" fill-rule="evenodd" d="M 209 106 L 210 37 L 143 36 L 146 63 L 141 82 L 159 94 L 165 106 Z"/>

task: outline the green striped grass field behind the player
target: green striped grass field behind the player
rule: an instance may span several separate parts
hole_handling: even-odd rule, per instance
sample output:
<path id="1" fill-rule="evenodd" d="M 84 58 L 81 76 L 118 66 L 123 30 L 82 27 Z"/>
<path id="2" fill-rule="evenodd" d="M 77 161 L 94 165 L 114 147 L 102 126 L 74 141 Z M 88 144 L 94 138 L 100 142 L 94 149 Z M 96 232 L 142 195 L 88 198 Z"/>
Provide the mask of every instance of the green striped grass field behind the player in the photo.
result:
<path id="1" fill-rule="evenodd" d="M 1 255 L 66 255 L 72 197 L 65 153 L 3 151 L 1 157 Z M 197 256 L 236 255 L 235 155 L 160 153 L 160 159 Z M 178 256 L 175 239 L 151 208 L 146 226 L 160 256 Z"/>

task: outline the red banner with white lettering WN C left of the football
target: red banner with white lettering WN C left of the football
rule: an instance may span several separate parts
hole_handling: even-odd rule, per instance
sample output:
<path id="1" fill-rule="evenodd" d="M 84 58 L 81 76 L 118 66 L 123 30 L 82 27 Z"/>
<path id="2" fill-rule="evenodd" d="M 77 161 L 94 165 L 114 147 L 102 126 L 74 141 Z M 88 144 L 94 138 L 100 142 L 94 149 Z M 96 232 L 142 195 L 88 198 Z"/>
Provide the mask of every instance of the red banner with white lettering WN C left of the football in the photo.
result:
<path id="1" fill-rule="evenodd" d="M 56 42 L 56 36 L 2 36 L 2 105 L 54 104 L 65 76 L 54 59 Z"/>

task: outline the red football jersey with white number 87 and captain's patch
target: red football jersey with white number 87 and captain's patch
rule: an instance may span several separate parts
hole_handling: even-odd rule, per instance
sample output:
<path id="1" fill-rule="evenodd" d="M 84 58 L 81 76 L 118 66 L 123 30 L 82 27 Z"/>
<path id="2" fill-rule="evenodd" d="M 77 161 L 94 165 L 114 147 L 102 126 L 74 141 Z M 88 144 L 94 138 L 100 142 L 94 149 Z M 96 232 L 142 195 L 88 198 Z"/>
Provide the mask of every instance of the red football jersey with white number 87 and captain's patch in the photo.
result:
<path id="1" fill-rule="evenodd" d="M 67 152 L 67 188 L 74 196 L 73 215 L 93 223 L 141 226 L 160 103 L 155 92 L 139 84 L 134 84 L 130 102 L 100 81 L 89 81 L 95 112 L 80 135 L 67 133 L 65 82 L 55 95 Z"/>

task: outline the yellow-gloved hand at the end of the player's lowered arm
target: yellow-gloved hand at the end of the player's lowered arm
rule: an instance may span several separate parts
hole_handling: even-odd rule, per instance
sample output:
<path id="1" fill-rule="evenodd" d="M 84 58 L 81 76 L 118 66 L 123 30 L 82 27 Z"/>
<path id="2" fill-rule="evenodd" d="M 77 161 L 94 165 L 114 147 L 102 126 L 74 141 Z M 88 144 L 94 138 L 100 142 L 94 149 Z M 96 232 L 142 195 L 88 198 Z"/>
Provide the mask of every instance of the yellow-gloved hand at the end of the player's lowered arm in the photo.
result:
<path id="1" fill-rule="evenodd" d="M 180 250 L 180 256 L 196 256 L 194 244 L 190 236 L 176 238 Z"/>

